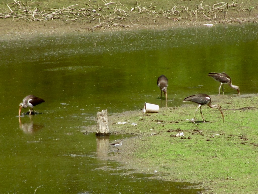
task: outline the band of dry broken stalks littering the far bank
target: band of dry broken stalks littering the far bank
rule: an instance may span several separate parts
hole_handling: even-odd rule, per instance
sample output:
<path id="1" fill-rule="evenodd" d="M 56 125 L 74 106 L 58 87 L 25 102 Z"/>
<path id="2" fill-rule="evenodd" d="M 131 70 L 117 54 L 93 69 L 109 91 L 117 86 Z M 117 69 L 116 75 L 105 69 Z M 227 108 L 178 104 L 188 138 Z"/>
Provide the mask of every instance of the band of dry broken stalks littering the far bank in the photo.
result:
<path id="1" fill-rule="evenodd" d="M 182 2 L 184 3 L 184 2 Z M 257 17 L 251 17 L 254 7 L 245 8 L 244 0 L 240 2 L 219 2 L 212 5 L 205 5 L 201 0 L 196 6 L 188 7 L 185 4 L 173 5 L 170 9 L 157 8 L 150 3 L 149 6 L 136 2 L 134 6 L 122 4 L 119 1 L 102 0 L 101 4 L 86 3 L 83 6 L 73 4 L 64 8 L 46 8 L 38 6 L 35 2 L 22 2 L 13 0 L 6 3 L 6 9 L 0 12 L 0 18 L 19 18 L 28 21 L 46 21 L 46 20 L 62 20 L 68 23 L 82 20 L 87 23 L 93 23 L 91 28 L 102 27 L 128 27 L 131 25 L 139 25 L 132 17 L 146 15 L 154 20 L 162 17 L 165 19 L 180 21 L 182 19 L 189 21 L 211 21 L 217 20 L 223 23 L 231 22 L 254 22 Z M 3 10 L 3 9 L 2 9 Z M 248 12 L 248 18 L 230 17 L 227 18 L 228 12 Z M 232 15 L 232 14 L 231 14 Z M 233 14 L 234 15 L 234 14 Z M 236 14 L 237 15 L 237 14 Z"/>

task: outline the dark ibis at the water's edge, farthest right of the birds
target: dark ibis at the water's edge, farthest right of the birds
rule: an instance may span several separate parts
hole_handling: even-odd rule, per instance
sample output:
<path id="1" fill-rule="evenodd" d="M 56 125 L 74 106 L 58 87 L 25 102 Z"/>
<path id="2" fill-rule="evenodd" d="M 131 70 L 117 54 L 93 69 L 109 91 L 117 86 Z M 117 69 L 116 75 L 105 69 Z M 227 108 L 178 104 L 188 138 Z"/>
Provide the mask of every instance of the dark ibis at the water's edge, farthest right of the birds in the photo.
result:
<path id="1" fill-rule="evenodd" d="M 236 89 L 238 94 L 240 94 L 239 87 L 238 86 L 234 86 L 232 84 L 231 78 L 225 72 L 222 72 L 222 73 L 209 73 L 208 76 L 211 76 L 213 79 L 215 79 L 215 80 L 220 82 L 219 93 L 220 93 L 221 85 L 222 85 L 222 92 L 224 94 L 224 87 L 223 87 L 224 85 L 223 84 L 228 84 L 230 87 Z"/>

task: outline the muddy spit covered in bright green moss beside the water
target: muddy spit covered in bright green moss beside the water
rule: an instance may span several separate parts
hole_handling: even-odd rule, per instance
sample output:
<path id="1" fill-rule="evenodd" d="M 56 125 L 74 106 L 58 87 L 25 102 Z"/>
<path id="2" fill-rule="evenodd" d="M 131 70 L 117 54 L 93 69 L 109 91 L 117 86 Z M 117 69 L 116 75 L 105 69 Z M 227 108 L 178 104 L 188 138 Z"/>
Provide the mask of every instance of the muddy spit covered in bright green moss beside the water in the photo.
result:
<path id="1" fill-rule="evenodd" d="M 204 193 L 256 193 L 258 96 L 211 98 L 213 104 L 222 106 L 225 123 L 217 109 L 207 106 L 203 107 L 206 123 L 199 113 L 198 124 L 190 123 L 187 119 L 193 117 L 197 105 L 188 102 L 182 107 L 161 108 L 158 114 L 139 111 L 111 116 L 111 130 L 138 134 L 127 139 L 123 152 L 112 159 L 141 172 L 157 170 L 158 178 L 165 180 L 203 183 Z M 127 124 L 117 124 L 122 121 Z M 133 122 L 137 125 L 130 124 Z M 171 137 L 179 132 L 184 132 L 186 139 Z"/>

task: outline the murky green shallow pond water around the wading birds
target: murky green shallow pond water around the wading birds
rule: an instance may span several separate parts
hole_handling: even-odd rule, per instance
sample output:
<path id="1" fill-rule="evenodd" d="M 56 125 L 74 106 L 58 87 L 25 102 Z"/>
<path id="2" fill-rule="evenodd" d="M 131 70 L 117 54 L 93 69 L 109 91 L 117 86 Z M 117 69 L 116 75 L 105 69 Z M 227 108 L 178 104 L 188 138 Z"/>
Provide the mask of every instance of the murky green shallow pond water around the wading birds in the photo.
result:
<path id="1" fill-rule="evenodd" d="M 257 32 L 249 24 L 0 40 L 0 193 L 38 186 L 36 193 L 198 193 L 189 183 L 123 175 L 120 164 L 99 157 L 95 135 L 83 135 L 80 126 L 95 124 L 103 109 L 166 106 L 161 74 L 169 80 L 169 107 L 188 95 L 218 94 L 209 72 L 228 73 L 241 94 L 257 93 Z M 43 114 L 19 122 L 18 105 L 29 94 L 46 101 L 35 107 Z M 105 154 L 120 154 L 108 143 Z"/>

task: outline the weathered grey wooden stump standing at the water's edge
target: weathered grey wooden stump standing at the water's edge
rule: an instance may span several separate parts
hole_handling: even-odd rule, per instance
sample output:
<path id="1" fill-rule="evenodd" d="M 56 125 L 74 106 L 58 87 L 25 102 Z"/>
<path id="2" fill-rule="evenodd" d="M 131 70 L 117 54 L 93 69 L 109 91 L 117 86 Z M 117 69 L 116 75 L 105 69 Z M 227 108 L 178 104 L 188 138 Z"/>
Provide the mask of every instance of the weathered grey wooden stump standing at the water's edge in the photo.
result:
<path id="1" fill-rule="evenodd" d="M 97 131 L 96 136 L 108 136 L 108 111 L 102 110 L 97 113 Z"/>

